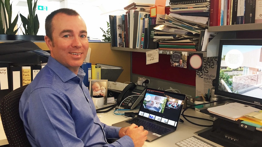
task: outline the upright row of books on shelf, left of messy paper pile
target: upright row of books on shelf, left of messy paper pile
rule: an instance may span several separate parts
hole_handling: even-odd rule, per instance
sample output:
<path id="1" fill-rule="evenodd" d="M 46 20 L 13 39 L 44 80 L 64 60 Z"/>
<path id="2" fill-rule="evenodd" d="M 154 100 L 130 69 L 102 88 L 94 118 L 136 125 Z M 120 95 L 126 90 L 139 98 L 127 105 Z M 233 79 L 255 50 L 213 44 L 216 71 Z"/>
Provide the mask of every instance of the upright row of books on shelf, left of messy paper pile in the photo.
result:
<path id="1" fill-rule="evenodd" d="M 150 37 L 152 34 L 150 29 L 153 30 L 151 25 L 156 24 L 156 18 L 150 17 L 150 11 L 141 10 L 142 7 L 150 10 L 152 6 L 154 4 L 132 3 L 124 8 L 128 10 L 125 15 L 109 15 L 111 45 L 126 48 L 156 48 L 153 36 Z"/>

